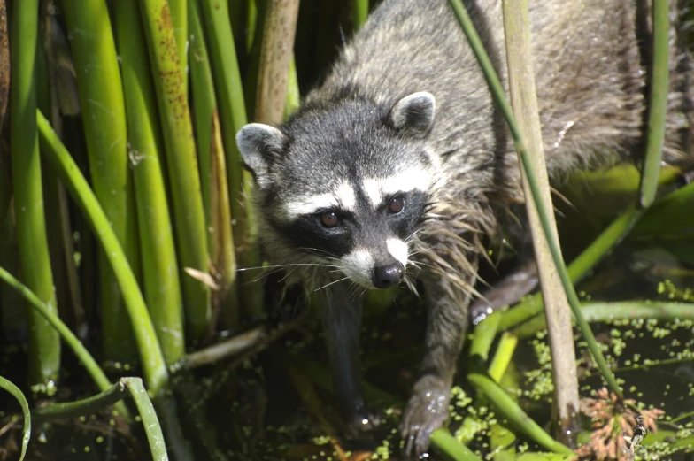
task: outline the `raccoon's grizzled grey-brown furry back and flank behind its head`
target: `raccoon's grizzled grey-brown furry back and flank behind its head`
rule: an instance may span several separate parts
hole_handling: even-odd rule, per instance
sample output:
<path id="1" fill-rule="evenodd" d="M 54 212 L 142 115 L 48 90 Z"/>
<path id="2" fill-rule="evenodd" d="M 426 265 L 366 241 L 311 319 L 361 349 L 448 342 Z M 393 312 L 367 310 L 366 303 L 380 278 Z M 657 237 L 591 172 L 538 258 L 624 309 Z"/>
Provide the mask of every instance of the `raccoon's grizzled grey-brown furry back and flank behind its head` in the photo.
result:
<path id="1" fill-rule="evenodd" d="M 465 4 L 505 82 L 500 0 Z M 645 58 L 639 40 L 650 40 L 645 12 L 645 5 L 628 0 L 530 2 L 536 88 L 551 174 L 625 158 L 641 140 Z M 675 55 L 680 53 L 673 51 L 674 70 Z M 672 105 L 686 99 L 682 81 L 689 73 L 689 67 L 685 75 L 673 73 Z M 500 183 L 518 187 L 513 144 L 448 0 L 385 0 L 309 99 L 359 93 L 387 107 L 416 91 L 436 96 L 431 136 L 450 172 L 479 173 L 474 181 L 490 191 Z M 681 107 L 674 109 L 680 113 L 668 123 L 676 132 L 687 120 Z M 682 157 L 681 144 L 670 136 L 666 154 Z"/>

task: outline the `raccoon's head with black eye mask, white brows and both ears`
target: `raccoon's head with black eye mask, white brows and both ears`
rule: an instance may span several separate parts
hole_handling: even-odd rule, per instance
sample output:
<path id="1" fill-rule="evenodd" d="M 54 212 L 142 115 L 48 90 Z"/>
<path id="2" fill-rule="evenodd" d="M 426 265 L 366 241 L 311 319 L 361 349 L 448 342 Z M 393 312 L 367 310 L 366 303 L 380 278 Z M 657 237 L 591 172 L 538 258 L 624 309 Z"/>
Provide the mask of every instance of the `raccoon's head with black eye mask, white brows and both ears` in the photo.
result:
<path id="1" fill-rule="evenodd" d="M 367 288 L 403 280 L 428 208 L 434 115 L 434 96 L 414 93 L 386 107 L 313 103 L 279 129 L 243 127 L 236 142 L 282 262 L 333 265 Z"/>

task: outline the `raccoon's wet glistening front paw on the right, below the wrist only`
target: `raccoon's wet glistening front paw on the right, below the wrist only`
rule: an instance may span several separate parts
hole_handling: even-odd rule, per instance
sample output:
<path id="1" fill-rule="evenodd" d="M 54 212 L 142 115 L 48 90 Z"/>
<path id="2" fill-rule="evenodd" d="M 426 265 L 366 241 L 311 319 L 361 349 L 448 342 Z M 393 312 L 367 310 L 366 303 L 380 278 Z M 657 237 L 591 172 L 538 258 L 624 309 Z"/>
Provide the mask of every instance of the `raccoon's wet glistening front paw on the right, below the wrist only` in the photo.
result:
<path id="1" fill-rule="evenodd" d="M 448 419 L 449 400 L 451 388 L 441 380 L 425 376 L 417 381 L 400 421 L 405 457 L 421 457 L 427 452 L 431 434 Z"/>

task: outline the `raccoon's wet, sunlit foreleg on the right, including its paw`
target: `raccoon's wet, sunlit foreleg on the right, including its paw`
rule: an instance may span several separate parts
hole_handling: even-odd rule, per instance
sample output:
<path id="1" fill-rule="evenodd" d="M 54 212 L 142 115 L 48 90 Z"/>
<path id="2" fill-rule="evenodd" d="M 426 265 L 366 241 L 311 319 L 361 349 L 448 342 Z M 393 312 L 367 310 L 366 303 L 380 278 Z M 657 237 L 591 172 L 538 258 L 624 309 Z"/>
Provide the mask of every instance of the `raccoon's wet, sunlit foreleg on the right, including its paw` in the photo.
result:
<path id="1" fill-rule="evenodd" d="M 400 422 L 405 455 L 417 457 L 427 451 L 431 433 L 448 419 L 470 301 L 469 295 L 443 277 L 425 279 L 424 289 L 428 303 L 424 358 Z"/>

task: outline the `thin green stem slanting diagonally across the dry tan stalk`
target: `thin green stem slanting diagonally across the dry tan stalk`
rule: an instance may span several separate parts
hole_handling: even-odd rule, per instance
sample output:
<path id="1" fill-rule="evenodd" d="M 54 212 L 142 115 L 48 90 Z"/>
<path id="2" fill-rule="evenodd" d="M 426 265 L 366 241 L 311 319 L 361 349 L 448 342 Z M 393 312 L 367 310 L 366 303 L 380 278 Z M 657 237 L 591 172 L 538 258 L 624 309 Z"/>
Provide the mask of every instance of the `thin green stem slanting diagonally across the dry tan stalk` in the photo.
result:
<path id="1" fill-rule="evenodd" d="M 511 130 L 511 134 L 513 134 L 513 140 L 516 144 L 516 150 L 518 150 L 519 157 L 521 158 L 521 163 L 523 165 L 523 169 L 526 175 L 528 176 L 528 183 L 532 190 L 533 200 L 536 204 L 536 209 L 539 214 L 540 221 L 543 225 L 544 235 L 545 238 L 547 238 L 547 242 L 550 245 L 551 256 L 554 260 L 554 264 L 557 266 L 559 278 L 561 279 L 561 283 L 564 286 L 565 292 L 567 293 L 567 299 L 569 305 L 571 306 L 571 310 L 574 312 L 576 323 L 578 324 L 578 327 L 581 330 L 581 333 L 585 341 L 588 343 L 593 359 L 598 364 L 598 368 L 600 369 L 600 372 L 603 374 L 605 380 L 607 381 L 607 384 L 617 396 L 623 398 L 621 388 L 617 384 L 617 380 L 614 379 L 613 373 L 607 366 L 607 363 L 605 362 L 605 357 L 603 357 L 602 352 L 599 350 L 598 342 L 596 342 L 595 336 L 590 330 L 590 326 L 582 317 L 578 296 L 576 296 L 574 285 L 571 283 L 571 279 L 567 272 L 567 267 L 566 265 L 564 265 L 564 261 L 561 257 L 561 250 L 559 249 L 558 239 L 552 233 L 550 219 L 547 215 L 547 211 L 544 209 L 543 206 L 540 206 L 542 204 L 542 195 L 537 185 L 536 174 L 533 171 L 530 159 L 528 158 L 528 152 L 525 150 L 525 147 L 523 145 L 521 132 L 515 123 L 515 119 L 513 118 L 513 111 L 511 110 L 511 105 L 508 104 L 508 101 L 506 100 L 504 88 L 501 85 L 501 81 L 499 81 L 497 73 L 494 71 L 494 67 L 491 64 L 490 58 L 487 55 L 487 52 L 484 50 L 482 41 L 480 40 L 479 35 L 477 35 L 477 32 L 475 31 L 474 25 L 470 20 L 470 17 L 467 15 L 465 6 L 463 6 L 460 0 L 449 0 L 449 2 L 451 4 L 451 7 L 453 8 L 453 11 L 456 13 L 456 17 L 459 19 L 460 26 L 463 28 L 463 31 L 467 36 L 467 41 L 470 43 L 470 46 L 474 50 L 474 54 L 480 66 L 482 67 L 484 78 L 490 86 L 492 96 L 494 97 L 497 106 L 504 114 L 506 123 L 508 124 Z"/>

